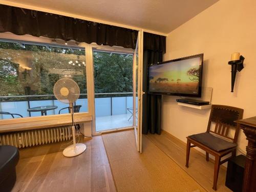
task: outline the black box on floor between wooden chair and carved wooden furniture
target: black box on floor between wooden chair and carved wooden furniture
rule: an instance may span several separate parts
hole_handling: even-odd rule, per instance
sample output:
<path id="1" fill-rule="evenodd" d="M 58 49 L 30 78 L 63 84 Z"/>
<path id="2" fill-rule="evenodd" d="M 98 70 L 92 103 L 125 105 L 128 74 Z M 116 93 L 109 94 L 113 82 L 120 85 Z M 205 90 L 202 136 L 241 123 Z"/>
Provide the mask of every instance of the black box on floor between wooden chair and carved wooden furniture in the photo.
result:
<path id="1" fill-rule="evenodd" d="M 226 186 L 234 192 L 242 192 L 246 157 L 239 155 L 228 160 Z"/>

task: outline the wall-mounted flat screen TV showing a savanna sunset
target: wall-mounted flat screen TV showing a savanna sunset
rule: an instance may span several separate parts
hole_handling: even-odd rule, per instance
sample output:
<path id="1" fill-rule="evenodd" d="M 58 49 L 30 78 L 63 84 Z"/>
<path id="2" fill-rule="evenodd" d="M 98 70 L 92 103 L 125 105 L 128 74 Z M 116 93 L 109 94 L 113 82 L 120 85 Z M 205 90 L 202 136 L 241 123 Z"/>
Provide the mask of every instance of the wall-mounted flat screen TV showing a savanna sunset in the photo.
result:
<path id="1" fill-rule="evenodd" d="M 203 54 L 164 61 L 148 67 L 150 94 L 201 97 Z"/>

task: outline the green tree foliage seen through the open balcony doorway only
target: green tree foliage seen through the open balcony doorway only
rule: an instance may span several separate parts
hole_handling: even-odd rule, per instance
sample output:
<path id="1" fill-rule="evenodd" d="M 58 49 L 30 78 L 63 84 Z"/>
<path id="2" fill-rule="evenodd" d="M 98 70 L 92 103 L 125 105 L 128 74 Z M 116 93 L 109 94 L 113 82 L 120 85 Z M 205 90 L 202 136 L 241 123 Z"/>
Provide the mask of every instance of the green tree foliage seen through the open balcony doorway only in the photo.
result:
<path id="1" fill-rule="evenodd" d="M 94 52 L 95 93 L 133 92 L 133 57 Z"/>

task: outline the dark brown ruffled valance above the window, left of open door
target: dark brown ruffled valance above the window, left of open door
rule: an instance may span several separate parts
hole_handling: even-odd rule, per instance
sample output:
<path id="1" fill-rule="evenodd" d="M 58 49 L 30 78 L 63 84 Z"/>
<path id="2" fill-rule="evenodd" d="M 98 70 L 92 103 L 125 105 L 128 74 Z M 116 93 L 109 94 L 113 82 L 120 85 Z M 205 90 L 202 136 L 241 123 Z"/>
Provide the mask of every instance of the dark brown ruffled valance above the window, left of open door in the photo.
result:
<path id="1" fill-rule="evenodd" d="M 41 11 L 0 5 L 0 32 L 135 49 L 138 31 Z"/>

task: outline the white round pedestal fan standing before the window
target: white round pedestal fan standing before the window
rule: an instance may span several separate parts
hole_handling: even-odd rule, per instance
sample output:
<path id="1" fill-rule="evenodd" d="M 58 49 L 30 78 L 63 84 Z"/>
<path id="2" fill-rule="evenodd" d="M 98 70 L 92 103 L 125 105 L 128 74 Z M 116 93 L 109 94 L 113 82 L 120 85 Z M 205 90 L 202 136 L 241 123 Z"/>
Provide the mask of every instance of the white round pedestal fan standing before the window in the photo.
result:
<path id="1" fill-rule="evenodd" d="M 76 143 L 73 108 L 73 103 L 79 98 L 79 87 L 72 79 L 62 78 L 55 83 L 53 87 L 53 93 L 60 102 L 69 103 L 70 113 L 72 117 L 73 145 L 66 147 L 63 151 L 63 155 L 66 157 L 74 157 L 80 155 L 86 150 L 86 145 L 83 143 Z"/>

